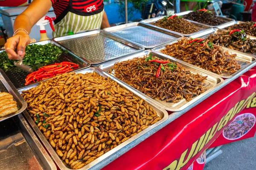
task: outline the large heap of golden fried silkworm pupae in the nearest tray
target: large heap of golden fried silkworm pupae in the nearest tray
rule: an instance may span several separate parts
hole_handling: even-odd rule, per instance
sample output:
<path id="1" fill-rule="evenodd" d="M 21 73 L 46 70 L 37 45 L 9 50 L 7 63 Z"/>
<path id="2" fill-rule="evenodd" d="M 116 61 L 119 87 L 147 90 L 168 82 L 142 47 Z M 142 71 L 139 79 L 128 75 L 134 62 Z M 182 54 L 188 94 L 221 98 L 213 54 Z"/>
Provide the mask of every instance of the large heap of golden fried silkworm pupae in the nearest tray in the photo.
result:
<path id="1" fill-rule="evenodd" d="M 131 91 L 99 74 L 66 73 L 22 92 L 58 156 L 79 169 L 161 119 Z"/>

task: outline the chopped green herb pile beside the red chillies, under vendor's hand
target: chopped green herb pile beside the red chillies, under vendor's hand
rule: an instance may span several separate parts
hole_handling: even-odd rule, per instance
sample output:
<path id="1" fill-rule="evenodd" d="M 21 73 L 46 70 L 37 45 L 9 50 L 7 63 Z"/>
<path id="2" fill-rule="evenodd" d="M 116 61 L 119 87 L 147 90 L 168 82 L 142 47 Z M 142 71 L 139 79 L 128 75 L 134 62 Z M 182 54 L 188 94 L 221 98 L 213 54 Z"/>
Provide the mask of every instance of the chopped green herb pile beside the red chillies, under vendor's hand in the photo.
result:
<path id="1" fill-rule="evenodd" d="M 28 45 L 25 49 L 23 64 L 30 65 L 34 70 L 47 65 L 60 57 L 62 50 L 51 43 L 46 45 Z M 0 68 L 7 71 L 15 67 L 14 60 L 8 58 L 6 51 L 0 53 Z"/>

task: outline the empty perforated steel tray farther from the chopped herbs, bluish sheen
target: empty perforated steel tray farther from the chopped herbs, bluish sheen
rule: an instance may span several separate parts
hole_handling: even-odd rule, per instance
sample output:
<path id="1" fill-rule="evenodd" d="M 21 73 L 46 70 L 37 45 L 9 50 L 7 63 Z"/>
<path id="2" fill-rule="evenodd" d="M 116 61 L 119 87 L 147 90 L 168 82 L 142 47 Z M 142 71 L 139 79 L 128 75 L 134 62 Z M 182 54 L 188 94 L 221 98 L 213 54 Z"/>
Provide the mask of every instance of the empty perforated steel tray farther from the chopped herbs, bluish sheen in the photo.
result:
<path id="1" fill-rule="evenodd" d="M 104 30 L 114 36 L 134 42 L 144 48 L 154 48 L 158 45 L 182 37 L 179 34 L 163 31 L 159 28 L 147 26 L 138 22 L 105 28 Z"/>

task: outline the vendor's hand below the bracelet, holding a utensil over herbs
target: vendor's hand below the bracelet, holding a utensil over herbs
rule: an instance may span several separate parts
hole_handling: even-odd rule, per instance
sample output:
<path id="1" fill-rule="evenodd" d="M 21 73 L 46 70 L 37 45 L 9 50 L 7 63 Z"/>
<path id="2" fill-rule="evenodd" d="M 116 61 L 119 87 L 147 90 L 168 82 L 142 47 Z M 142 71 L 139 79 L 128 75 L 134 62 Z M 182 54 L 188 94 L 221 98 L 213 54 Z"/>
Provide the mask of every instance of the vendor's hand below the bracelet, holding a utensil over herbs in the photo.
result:
<path id="1" fill-rule="evenodd" d="M 8 58 L 18 60 L 17 54 L 23 58 L 25 55 L 25 48 L 29 43 L 30 37 L 23 31 L 18 32 L 14 37 L 9 38 L 4 45 Z M 15 52 L 15 48 L 17 48 L 17 53 Z"/>

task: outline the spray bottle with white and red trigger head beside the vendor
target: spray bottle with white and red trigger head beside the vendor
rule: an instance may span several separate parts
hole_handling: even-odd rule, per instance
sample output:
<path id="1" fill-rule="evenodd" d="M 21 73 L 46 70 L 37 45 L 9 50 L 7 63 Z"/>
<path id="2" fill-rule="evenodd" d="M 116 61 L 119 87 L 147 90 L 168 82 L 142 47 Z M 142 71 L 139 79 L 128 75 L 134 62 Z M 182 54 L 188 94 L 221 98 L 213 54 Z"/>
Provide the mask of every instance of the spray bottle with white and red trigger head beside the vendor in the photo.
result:
<path id="1" fill-rule="evenodd" d="M 36 23 L 37 26 L 40 26 L 41 39 L 39 41 L 49 40 L 44 26 L 47 24 L 50 24 L 52 31 L 55 31 L 53 24 L 52 24 L 52 21 L 54 21 L 54 20 L 55 20 L 55 17 L 50 18 L 48 16 L 44 16 Z"/>

